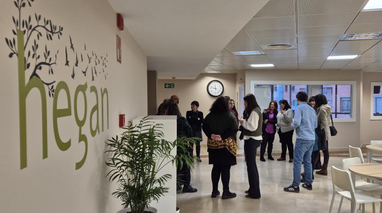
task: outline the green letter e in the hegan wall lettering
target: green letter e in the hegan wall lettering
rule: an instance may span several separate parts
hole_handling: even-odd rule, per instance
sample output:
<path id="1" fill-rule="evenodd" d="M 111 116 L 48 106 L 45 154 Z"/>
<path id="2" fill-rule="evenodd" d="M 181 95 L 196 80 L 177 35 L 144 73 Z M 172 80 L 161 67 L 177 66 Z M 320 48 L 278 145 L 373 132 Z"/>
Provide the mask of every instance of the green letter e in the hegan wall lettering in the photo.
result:
<path id="1" fill-rule="evenodd" d="M 68 107 L 65 109 L 57 109 L 57 101 L 58 101 L 61 90 L 64 90 L 64 92 L 66 93 Z M 56 90 L 53 96 L 53 116 L 52 117 L 53 117 L 54 138 L 56 139 L 56 144 L 61 151 L 66 151 L 67 149 L 69 149 L 71 144 L 71 139 L 69 139 L 66 142 L 63 142 L 61 140 L 57 119 L 72 115 L 71 105 L 72 104 L 70 102 L 70 92 L 69 92 L 68 85 L 63 81 L 60 81 L 56 86 Z"/>

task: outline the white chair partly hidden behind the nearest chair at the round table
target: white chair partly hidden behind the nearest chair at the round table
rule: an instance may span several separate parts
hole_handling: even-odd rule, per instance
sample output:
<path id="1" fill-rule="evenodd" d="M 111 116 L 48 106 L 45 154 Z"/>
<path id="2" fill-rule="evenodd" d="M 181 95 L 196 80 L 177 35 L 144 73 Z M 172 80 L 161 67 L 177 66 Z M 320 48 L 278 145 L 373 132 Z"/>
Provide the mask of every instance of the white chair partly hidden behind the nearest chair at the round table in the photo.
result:
<path id="1" fill-rule="evenodd" d="M 360 149 L 360 148 L 356 148 L 356 149 Z M 349 146 L 349 150 L 350 150 L 350 146 Z M 360 164 L 360 163 L 361 163 L 361 159 L 359 157 L 343 159 L 342 168 L 343 170 L 348 171 L 349 166 Z M 354 188 L 356 188 L 356 190 L 362 190 L 370 194 L 382 196 L 382 186 L 379 184 L 368 183 L 364 180 L 359 180 L 359 181 L 353 180 L 353 183 L 355 183 Z M 361 209 L 361 206 L 359 209 Z M 375 209 L 375 205 L 373 203 L 373 212 L 374 212 L 374 209 Z"/>

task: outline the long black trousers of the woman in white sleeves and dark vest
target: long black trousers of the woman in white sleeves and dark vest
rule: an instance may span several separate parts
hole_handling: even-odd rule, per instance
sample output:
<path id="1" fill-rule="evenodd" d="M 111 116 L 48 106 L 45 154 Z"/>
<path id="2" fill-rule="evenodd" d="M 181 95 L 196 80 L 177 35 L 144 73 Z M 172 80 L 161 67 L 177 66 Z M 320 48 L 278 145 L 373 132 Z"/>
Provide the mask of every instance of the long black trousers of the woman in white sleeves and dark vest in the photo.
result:
<path id="1" fill-rule="evenodd" d="M 255 140 L 249 138 L 244 140 L 244 154 L 247 163 L 248 172 L 248 182 L 250 188 L 248 190 L 249 195 L 253 198 L 260 198 L 260 182 L 259 182 L 259 171 L 256 165 L 256 152 L 257 148 L 260 146 L 261 140 Z"/>

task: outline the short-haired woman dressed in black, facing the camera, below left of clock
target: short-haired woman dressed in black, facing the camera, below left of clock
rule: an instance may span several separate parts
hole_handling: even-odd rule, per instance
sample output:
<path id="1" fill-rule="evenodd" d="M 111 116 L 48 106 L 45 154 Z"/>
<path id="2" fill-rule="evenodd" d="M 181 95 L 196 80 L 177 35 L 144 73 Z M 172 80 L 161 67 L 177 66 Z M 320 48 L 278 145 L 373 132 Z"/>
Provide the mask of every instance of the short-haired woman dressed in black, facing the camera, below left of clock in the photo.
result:
<path id="1" fill-rule="evenodd" d="M 202 139 L 202 123 L 203 123 L 203 112 L 198 111 L 199 102 L 194 100 L 191 102 L 191 111 L 186 112 L 186 119 L 193 129 L 193 137 L 199 137 L 200 140 L 196 143 L 196 156 L 198 157 L 198 161 L 201 162 L 200 159 L 200 142 Z"/>

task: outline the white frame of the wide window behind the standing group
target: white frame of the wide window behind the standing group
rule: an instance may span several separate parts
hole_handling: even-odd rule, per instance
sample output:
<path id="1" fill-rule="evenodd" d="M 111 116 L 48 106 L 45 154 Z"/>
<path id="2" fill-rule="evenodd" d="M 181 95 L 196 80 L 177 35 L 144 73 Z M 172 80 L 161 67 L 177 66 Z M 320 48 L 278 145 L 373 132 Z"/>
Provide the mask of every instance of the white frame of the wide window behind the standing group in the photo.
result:
<path id="1" fill-rule="evenodd" d="M 382 84 L 382 83 L 380 83 Z M 350 118 L 333 118 L 333 122 L 356 122 L 357 121 L 357 81 L 250 81 L 251 93 L 254 93 L 254 85 L 307 85 L 309 95 L 309 85 L 351 85 L 351 113 Z M 378 84 L 377 84 L 378 85 Z M 337 101 L 336 101 L 337 103 Z M 338 106 L 337 106 L 338 107 Z M 371 106 L 372 108 L 372 106 Z M 382 117 L 382 116 L 380 116 Z M 378 118 L 375 120 L 382 120 Z"/>

